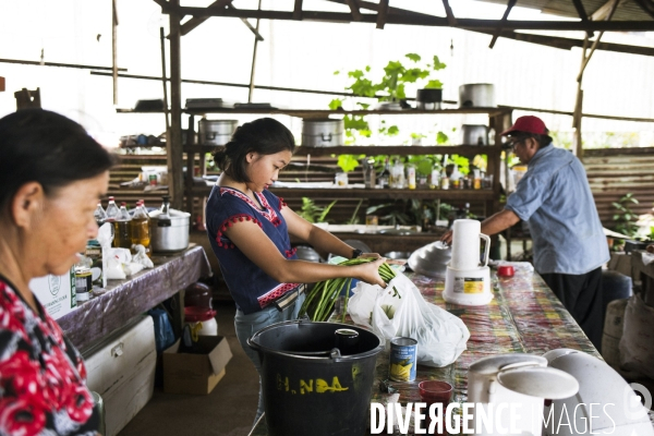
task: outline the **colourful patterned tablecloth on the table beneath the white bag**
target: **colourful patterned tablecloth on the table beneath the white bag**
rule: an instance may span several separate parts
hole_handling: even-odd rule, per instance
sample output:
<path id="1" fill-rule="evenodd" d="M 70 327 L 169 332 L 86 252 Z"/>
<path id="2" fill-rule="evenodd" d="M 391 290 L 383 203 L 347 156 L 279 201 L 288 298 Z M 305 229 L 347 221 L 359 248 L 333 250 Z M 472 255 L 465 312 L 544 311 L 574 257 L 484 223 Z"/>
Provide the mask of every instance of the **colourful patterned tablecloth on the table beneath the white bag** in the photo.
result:
<path id="1" fill-rule="evenodd" d="M 428 379 L 450 383 L 455 387 L 452 401 L 464 402 L 468 397 L 468 368 L 473 362 L 489 355 L 540 355 L 558 348 L 571 348 L 601 359 L 597 350 L 541 276 L 525 268 L 517 268 L 512 278 L 497 278 L 492 274 L 495 298 L 485 306 L 446 303 L 443 300 L 443 280 L 414 272 L 407 274 L 427 302 L 459 316 L 471 336 L 468 349 L 451 365 L 440 368 L 417 365 L 414 382 L 388 382 L 400 393 L 400 402 L 421 401 L 417 384 Z M 348 322 L 351 323 L 349 319 Z M 377 359 L 372 401 L 384 402 L 387 393 L 380 392 L 378 387 L 386 379 L 388 352 L 383 352 Z M 266 435 L 262 427 L 263 425 L 257 425 L 251 435 Z"/>

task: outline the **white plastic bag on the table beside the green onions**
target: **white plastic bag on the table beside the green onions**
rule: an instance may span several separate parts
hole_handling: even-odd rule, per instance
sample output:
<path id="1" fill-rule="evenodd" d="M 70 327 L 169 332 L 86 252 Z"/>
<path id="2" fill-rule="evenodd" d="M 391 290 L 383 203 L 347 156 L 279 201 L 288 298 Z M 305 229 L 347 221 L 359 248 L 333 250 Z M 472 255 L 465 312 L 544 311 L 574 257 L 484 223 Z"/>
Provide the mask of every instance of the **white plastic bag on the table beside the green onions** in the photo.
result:
<path id="1" fill-rule="evenodd" d="M 372 327 L 385 339 L 402 336 L 417 340 L 417 362 L 427 366 L 455 362 L 470 338 L 468 327 L 459 317 L 427 303 L 401 272 L 386 289 L 356 283 L 348 313 L 354 323 Z"/>

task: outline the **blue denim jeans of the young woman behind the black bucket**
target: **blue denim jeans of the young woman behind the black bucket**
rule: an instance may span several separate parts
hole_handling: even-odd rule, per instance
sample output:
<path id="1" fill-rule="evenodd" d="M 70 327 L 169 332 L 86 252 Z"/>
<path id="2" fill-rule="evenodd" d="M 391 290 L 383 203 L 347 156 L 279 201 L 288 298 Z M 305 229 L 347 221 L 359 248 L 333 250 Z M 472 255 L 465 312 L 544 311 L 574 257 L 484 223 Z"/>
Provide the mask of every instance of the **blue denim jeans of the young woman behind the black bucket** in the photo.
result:
<path id="1" fill-rule="evenodd" d="M 276 306 L 266 307 L 261 312 L 255 312 L 249 315 L 245 315 L 240 310 L 237 310 L 237 316 L 234 317 L 237 337 L 239 338 L 239 342 L 241 343 L 243 351 L 245 351 L 245 354 L 247 354 L 252 363 L 254 363 L 254 367 L 259 375 L 259 399 L 253 426 L 264 413 L 264 396 L 262 387 L 262 362 L 258 353 L 247 347 L 247 338 L 262 328 L 269 326 L 270 324 L 298 319 L 298 312 L 300 312 L 300 307 L 304 302 L 304 293 L 298 296 L 295 303 L 288 306 L 283 312 L 279 312 Z"/>

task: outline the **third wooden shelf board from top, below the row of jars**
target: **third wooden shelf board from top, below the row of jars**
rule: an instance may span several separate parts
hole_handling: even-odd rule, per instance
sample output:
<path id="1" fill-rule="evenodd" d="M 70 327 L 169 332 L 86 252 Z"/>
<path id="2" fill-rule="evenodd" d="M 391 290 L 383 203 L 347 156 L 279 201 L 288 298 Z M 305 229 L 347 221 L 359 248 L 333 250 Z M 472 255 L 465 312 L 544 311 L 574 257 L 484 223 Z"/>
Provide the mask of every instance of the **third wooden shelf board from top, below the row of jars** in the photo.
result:
<path id="1" fill-rule="evenodd" d="M 211 186 L 193 186 L 191 194 L 208 196 Z M 270 192 L 281 197 L 316 197 L 316 198 L 374 198 L 374 199 L 461 199 L 461 201 L 489 201 L 495 197 L 492 190 L 371 190 L 356 187 L 270 187 Z"/>

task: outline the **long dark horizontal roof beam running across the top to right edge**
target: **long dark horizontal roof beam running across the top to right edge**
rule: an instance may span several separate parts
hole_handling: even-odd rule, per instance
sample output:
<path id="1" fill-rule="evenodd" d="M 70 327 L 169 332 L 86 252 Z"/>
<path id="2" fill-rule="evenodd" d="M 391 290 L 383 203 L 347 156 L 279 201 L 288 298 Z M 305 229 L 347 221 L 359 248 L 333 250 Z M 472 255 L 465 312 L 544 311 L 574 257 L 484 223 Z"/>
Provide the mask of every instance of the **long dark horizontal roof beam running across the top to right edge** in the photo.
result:
<path id="1" fill-rule="evenodd" d="M 344 1 L 344 0 L 343 0 Z M 361 8 L 364 8 L 363 2 L 359 2 Z M 264 20 L 293 20 L 293 12 L 284 11 L 257 11 L 257 10 L 223 10 L 215 11 L 206 8 L 192 7 L 166 7 L 164 13 L 175 11 L 179 15 L 197 15 L 197 16 L 231 16 L 239 19 L 264 19 Z M 319 11 L 303 11 L 302 14 L 305 22 L 322 21 L 335 23 L 351 23 L 352 14 L 350 12 L 319 12 Z M 376 23 L 377 14 L 362 14 L 362 22 Z M 652 21 L 601 21 L 582 23 L 581 21 L 521 21 L 507 20 L 476 20 L 476 19 L 457 19 L 457 28 L 463 29 L 491 29 L 495 31 L 498 27 L 504 29 L 525 29 L 525 31 L 605 31 L 605 32 L 651 32 Z M 403 24 L 403 25 L 420 25 L 433 27 L 448 27 L 449 23 L 446 17 L 434 16 L 427 14 L 396 14 L 392 9 L 389 9 L 386 17 L 386 24 Z"/>

